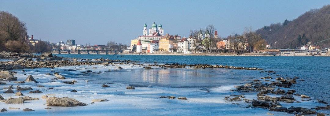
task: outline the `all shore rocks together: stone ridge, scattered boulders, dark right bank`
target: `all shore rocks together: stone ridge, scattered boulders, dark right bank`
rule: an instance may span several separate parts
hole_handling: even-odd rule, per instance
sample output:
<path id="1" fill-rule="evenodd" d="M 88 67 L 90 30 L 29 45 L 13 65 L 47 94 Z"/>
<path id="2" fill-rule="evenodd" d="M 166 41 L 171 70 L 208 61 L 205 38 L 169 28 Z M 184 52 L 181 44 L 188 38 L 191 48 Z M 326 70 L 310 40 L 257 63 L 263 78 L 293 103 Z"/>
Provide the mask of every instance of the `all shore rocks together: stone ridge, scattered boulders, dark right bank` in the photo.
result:
<path id="1" fill-rule="evenodd" d="M 121 64 L 129 64 L 132 67 L 133 66 L 142 66 L 145 69 L 150 68 L 185 68 L 185 67 L 195 67 L 195 68 L 227 68 L 227 69 L 246 69 L 246 70 L 263 70 L 261 68 L 247 68 L 247 67 L 235 67 L 235 66 L 224 66 L 224 65 L 210 65 L 210 64 L 157 64 L 157 62 L 149 63 L 149 64 L 142 64 L 138 61 L 131 61 L 131 60 L 111 60 L 111 59 L 75 59 L 75 58 L 61 58 L 57 57 L 56 55 L 52 56 L 51 53 L 45 53 L 40 56 L 34 56 L 31 54 L 25 54 L 25 55 L 15 55 L 15 57 L 10 56 L 4 56 L 4 58 L 12 58 L 13 61 L 2 61 L 0 62 L 0 69 L 3 69 L 0 71 L 0 85 L 6 85 L 7 83 L 11 81 L 16 81 L 14 83 L 16 84 L 24 84 L 26 82 L 33 82 L 38 83 L 37 80 L 32 75 L 27 75 L 25 80 L 19 80 L 17 77 L 15 77 L 16 72 L 12 71 L 12 69 L 34 69 L 34 68 L 54 68 L 54 67 L 62 67 L 62 66 L 78 66 L 78 65 L 103 65 L 103 66 L 116 66 L 117 69 L 121 69 L 122 67 L 118 66 Z M 36 58 L 33 60 L 33 58 Z M 95 67 L 96 68 L 96 67 Z M 75 71 L 74 69 L 68 69 Z M 92 71 L 87 70 L 87 72 L 84 73 L 90 73 Z M 245 95 L 230 95 L 226 96 L 223 99 L 226 100 L 226 102 L 233 102 L 235 101 L 245 101 L 248 105 L 247 107 L 258 107 L 258 108 L 265 108 L 269 111 L 278 111 L 278 112 L 286 112 L 290 114 L 294 114 L 297 116 L 302 115 L 317 115 L 317 116 L 325 116 L 329 114 L 322 113 L 319 110 L 329 110 L 330 106 L 315 106 L 315 108 L 303 108 L 303 107 L 285 107 L 281 103 L 300 103 L 305 101 L 312 101 L 315 100 L 311 97 L 308 97 L 307 95 L 301 95 L 296 93 L 295 90 L 290 89 L 290 87 L 293 84 L 296 84 L 297 81 L 303 81 L 298 80 L 299 77 L 282 77 L 281 75 L 276 75 L 276 71 L 261 71 L 260 73 L 267 73 L 271 74 L 271 76 L 267 77 L 261 77 L 260 79 L 255 79 L 249 83 L 246 83 L 244 85 L 236 86 L 234 90 L 235 92 L 240 93 L 256 93 L 256 99 L 249 99 L 246 98 Z M 54 72 L 53 74 L 48 75 L 54 75 L 56 78 L 52 78 L 51 81 L 56 82 L 57 80 L 63 80 L 66 79 L 64 75 L 61 75 L 58 72 Z M 63 84 L 68 85 L 74 85 L 77 83 L 77 81 L 64 81 L 61 82 Z M 38 85 L 37 87 L 44 87 L 42 85 Z M 100 85 L 102 88 L 110 87 L 106 84 Z M 4 88 L 7 91 L 5 91 L 5 94 L 13 94 L 14 86 L 9 86 L 8 88 Z M 49 90 L 53 90 L 53 87 L 49 87 Z M 134 86 L 127 86 L 125 89 L 133 90 L 136 89 Z M 30 91 L 31 90 L 31 91 Z M 43 91 L 35 90 L 31 87 L 20 87 L 20 85 L 16 86 L 16 94 L 15 96 L 24 96 L 21 91 L 30 91 L 29 93 L 43 93 Z M 70 90 L 71 92 L 77 92 L 77 90 Z M 24 93 L 25 94 L 25 93 Z M 40 100 L 40 99 L 46 99 L 46 106 L 62 106 L 62 107 L 71 107 L 71 106 L 85 106 L 86 103 L 80 102 L 74 98 L 69 97 L 48 97 L 51 95 L 44 95 L 41 98 L 33 98 L 29 96 L 24 97 L 8 97 L 4 98 L 0 96 L 0 101 L 4 102 L 6 104 L 11 103 L 24 103 L 28 100 Z M 297 98 L 300 98 L 297 99 Z M 175 99 L 175 96 L 160 96 L 160 98 L 168 98 L 168 99 Z M 177 97 L 178 100 L 187 100 L 189 98 L 187 97 Z M 95 102 L 102 102 L 102 101 L 108 101 L 107 99 L 92 99 L 91 103 Z M 317 102 L 322 104 L 328 104 L 325 101 L 318 100 Z M 9 108 L 9 109 L 17 109 L 17 108 Z M 19 108 L 18 108 L 19 109 Z M 45 109 L 51 109 L 49 107 L 46 107 Z M 7 109 L 2 109 L 1 111 L 7 111 Z M 25 108 L 22 111 L 34 111 L 33 109 Z M 269 113 L 268 115 L 272 115 Z"/>

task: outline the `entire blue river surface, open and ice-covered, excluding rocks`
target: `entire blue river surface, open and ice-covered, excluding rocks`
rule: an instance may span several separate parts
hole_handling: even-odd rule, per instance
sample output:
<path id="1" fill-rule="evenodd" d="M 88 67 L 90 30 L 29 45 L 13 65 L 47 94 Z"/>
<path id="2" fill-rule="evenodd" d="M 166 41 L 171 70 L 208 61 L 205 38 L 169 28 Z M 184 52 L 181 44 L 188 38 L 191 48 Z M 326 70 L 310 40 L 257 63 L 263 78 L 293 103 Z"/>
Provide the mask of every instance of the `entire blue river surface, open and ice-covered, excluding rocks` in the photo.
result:
<path id="1" fill-rule="evenodd" d="M 294 96 L 294 103 L 281 102 L 283 107 L 325 106 L 317 103 L 315 99 L 330 102 L 330 57 L 248 57 L 248 56 L 165 56 L 165 55 L 68 55 L 56 54 L 66 58 L 109 58 L 120 60 L 141 61 L 140 63 L 180 63 L 180 64 L 218 64 L 243 67 L 257 67 L 265 70 L 276 71 L 273 73 L 261 73 L 260 70 L 241 70 L 225 68 L 157 68 L 145 69 L 143 66 L 132 64 L 114 65 L 80 65 L 51 68 L 36 68 L 14 70 L 17 81 L 23 81 L 28 75 L 32 75 L 38 83 L 25 82 L 23 84 L 6 81 L 7 85 L 32 87 L 43 93 L 31 94 L 22 91 L 23 95 L 41 98 L 70 97 L 87 103 L 86 106 L 56 107 L 45 104 L 46 99 L 26 101 L 24 104 L 7 104 L 0 102 L 1 108 L 16 107 L 20 109 L 30 108 L 35 111 L 24 112 L 8 109 L 0 115 L 258 115 L 264 116 L 273 113 L 277 116 L 292 115 L 285 112 L 269 111 L 263 108 L 249 107 L 250 103 L 241 101 L 228 102 L 224 97 L 230 95 L 244 95 L 247 99 L 257 99 L 255 92 L 231 91 L 236 85 L 251 82 L 260 77 L 294 77 L 297 76 L 297 84 L 291 88 L 298 94 L 312 97 L 312 100 L 300 96 Z M 88 72 L 91 70 L 92 72 Z M 264 71 L 265 71 L 264 70 Z M 58 72 L 66 79 L 53 80 Z M 87 73 L 88 72 L 88 73 Z M 77 81 L 74 85 L 64 84 L 65 81 Z M 304 81 L 302 81 L 304 80 Z M 102 87 L 103 84 L 109 87 Z M 38 87 L 42 85 L 44 87 Z M 126 89 L 128 85 L 135 86 L 134 90 Z M 53 89 L 49 89 L 52 87 Z M 0 90 L 3 93 L 7 89 Z M 77 92 L 71 92 L 76 90 Z M 16 93 L 16 89 L 14 89 Z M 12 94 L 1 94 L 4 98 L 19 97 Z M 282 95 L 272 95 L 281 97 Z M 160 96 L 187 97 L 187 100 L 160 98 Z M 92 99 L 108 99 L 106 102 L 91 103 Z M 329 110 L 321 111 L 330 113 Z"/>

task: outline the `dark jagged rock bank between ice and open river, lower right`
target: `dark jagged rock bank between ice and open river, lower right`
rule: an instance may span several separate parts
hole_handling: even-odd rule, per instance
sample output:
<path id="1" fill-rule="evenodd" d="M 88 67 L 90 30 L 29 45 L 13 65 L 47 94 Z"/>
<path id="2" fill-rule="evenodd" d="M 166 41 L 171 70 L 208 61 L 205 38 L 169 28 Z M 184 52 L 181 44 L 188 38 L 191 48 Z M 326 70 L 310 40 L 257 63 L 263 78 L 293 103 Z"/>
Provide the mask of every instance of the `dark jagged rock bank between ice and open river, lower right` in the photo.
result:
<path id="1" fill-rule="evenodd" d="M 273 73 L 276 74 L 275 71 L 261 71 L 260 73 Z M 296 91 L 290 89 L 293 84 L 297 83 L 297 79 L 299 77 L 289 78 L 282 77 L 281 75 L 276 75 L 277 78 L 273 79 L 270 76 L 261 77 L 260 79 L 255 79 L 250 83 L 246 83 L 244 85 L 235 86 L 236 90 L 231 91 L 239 91 L 242 93 L 257 93 L 256 99 L 247 99 L 244 95 L 231 95 L 224 97 L 228 102 L 232 101 L 241 101 L 245 100 L 246 103 L 250 103 L 247 107 L 259 107 L 265 108 L 269 111 L 279 111 L 279 112 L 287 112 L 290 114 L 294 114 L 296 116 L 304 116 L 304 115 L 317 115 L 317 116 L 325 116 L 329 114 L 325 114 L 319 112 L 317 110 L 327 109 L 330 110 L 330 105 L 327 102 L 322 100 L 317 100 L 318 103 L 326 104 L 326 106 L 315 106 L 315 108 L 303 108 L 303 107 L 284 107 L 281 105 L 281 102 L 285 103 L 301 103 L 304 101 L 315 100 L 309 96 L 295 93 Z M 304 80 L 299 80 L 304 81 Z M 300 100 L 296 99 L 300 97 Z M 271 114 L 268 114 L 271 115 Z"/>

